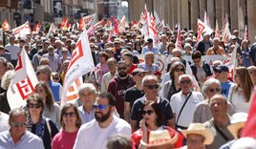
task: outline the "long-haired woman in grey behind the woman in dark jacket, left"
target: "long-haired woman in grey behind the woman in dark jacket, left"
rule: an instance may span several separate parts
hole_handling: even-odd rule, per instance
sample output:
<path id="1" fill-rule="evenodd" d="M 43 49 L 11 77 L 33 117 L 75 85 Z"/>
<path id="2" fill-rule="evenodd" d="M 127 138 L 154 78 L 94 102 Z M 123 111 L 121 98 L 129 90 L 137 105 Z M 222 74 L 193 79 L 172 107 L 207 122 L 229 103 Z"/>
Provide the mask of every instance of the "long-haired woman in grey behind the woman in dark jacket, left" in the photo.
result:
<path id="1" fill-rule="evenodd" d="M 49 85 L 45 81 L 40 81 L 34 87 L 34 93 L 43 97 L 44 109 L 43 116 L 49 117 L 53 122 L 60 127 L 59 116 L 60 108 L 57 103 L 53 100 L 53 93 Z"/>

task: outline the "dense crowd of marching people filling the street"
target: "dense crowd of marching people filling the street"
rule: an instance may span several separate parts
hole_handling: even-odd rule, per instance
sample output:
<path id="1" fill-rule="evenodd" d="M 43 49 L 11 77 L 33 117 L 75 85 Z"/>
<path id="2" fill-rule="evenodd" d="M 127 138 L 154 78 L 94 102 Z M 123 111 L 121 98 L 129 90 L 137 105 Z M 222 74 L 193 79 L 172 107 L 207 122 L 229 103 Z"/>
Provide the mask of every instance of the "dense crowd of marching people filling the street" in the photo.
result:
<path id="1" fill-rule="evenodd" d="M 254 138 L 241 138 L 255 92 L 256 43 L 249 47 L 237 30 L 226 43 L 206 32 L 197 41 L 196 32 L 183 30 L 179 49 L 177 29 L 164 27 L 156 46 L 136 27 L 116 35 L 98 26 L 89 35 L 95 69 L 83 74 L 78 97 L 60 107 L 81 32 L 59 30 L 46 37 L 40 31 L 18 38 L 6 32 L 8 44 L 0 42 L 0 148 L 227 149 L 245 141 L 256 146 Z M 22 50 L 39 83 L 26 105 L 11 109 L 7 90 Z M 234 50 L 234 77 L 223 61 L 202 60 Z M 160 70 L 156 55 L 171 55 L 166 70 Z M 193 89 L 187 67 L 201 91 Z"/>

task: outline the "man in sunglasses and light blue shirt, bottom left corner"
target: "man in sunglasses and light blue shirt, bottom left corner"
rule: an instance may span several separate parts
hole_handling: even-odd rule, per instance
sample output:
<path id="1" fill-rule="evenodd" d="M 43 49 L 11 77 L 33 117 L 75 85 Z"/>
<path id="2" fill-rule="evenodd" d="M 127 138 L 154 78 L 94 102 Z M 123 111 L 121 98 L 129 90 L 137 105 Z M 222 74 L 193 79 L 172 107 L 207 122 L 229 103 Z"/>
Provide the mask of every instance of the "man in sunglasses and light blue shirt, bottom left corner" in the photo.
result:
<path id="1" fill-rule="evenodd" d="M 20 108 L 11 110 L 10 130 L 0 133 L 0 148 L 44 149 L 41 138 L 27 131 L 27 113 Z"/>

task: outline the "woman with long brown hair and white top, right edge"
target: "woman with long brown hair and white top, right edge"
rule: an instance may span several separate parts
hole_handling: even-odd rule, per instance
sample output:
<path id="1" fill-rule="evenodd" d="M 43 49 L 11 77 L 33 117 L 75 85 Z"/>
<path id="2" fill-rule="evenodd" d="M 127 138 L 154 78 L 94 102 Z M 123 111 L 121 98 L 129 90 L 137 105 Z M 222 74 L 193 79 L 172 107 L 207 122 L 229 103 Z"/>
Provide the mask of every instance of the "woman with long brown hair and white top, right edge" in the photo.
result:
<path id="1" fill-rule="evenodd" d="M 254 85 L 245 67 L 235 69 L 235 82 L 236 85 L 230 87 L 227 100 L 234 106 L 236 113 L 248 113 L 254 94 Z"/>

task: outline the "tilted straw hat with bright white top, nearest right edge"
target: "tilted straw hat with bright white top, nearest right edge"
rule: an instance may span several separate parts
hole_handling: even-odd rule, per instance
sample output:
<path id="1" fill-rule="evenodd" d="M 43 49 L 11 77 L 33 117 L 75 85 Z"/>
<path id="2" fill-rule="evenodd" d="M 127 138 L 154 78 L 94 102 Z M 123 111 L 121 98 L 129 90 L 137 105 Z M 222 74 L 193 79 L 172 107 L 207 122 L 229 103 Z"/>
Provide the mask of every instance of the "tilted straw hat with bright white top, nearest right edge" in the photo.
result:
<path id="1" fill-rule="evenodd" d="M 246 113 L 236 113 L 231 117 L 231 124 L 227 126 L 227 129 L 234 136 L 234 138 L 238 138 L 238 131 L 241 128 L 244 128 L 247 117 L 248 114 Z"/>

